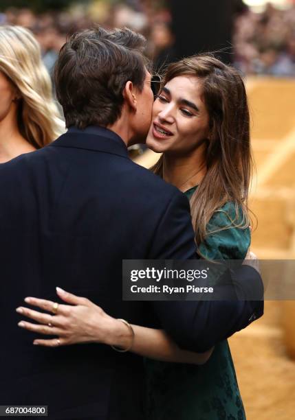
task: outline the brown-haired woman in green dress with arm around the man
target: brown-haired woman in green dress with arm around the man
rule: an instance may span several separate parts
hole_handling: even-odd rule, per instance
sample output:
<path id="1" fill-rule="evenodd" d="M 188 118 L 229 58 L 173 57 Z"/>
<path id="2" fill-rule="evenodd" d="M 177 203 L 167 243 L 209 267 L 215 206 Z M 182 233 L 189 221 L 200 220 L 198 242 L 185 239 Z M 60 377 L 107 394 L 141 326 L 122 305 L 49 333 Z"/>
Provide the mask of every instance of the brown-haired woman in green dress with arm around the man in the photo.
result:
<path id="1" fill-rule="evenodd" d="M 252 159 L 247 97 L 239 73 L 212 56 L 169 65 L 146 144 L 162 153 L 153 172 L 190 200 L 199 255 L 244 259 L 250 246 Z M 148 419 L 245 419 L 226 340 L 205 354 L 182 351 L 162 330 L 122 323 L 87 299 L 60 289 L 58 296 L 74 305 L 59 316 L 58 327 L 45 327 L 48 316 L 23 307 L 18 309 L 21 314 L 43 325 L 20 326 L 43 334 L 54 331 L 59 337 L 35 340 L 36 345 L 103 342 L 144 355 Z M 54 308 L 40 299 L 27 302 Z"/>

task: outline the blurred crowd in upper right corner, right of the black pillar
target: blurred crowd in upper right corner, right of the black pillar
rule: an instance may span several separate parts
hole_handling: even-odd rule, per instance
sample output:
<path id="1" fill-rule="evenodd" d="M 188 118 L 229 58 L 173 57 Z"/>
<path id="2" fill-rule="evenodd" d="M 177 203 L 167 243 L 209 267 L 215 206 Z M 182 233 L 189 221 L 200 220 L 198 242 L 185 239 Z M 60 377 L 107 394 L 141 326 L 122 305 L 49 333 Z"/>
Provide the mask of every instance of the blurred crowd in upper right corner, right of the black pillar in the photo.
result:
<path id="1" fill-rule="evenodd" d="M 234 29 L 235 63 L 245 74 L 295 75 L 295 5 L 278 10 L 248 10 Z"/>

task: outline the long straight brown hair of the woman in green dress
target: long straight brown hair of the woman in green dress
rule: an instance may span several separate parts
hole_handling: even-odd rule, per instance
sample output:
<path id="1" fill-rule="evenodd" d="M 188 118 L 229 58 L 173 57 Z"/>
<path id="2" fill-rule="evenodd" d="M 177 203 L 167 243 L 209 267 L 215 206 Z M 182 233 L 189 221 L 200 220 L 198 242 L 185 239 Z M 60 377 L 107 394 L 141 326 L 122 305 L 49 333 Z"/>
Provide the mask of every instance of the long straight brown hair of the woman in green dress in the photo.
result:
<path id="1" fill-rule="evenodd" d="M 202 100 L 210 121 L 210 140 L 207 141 L 206 149 L 207 172 L 190 198 L 195 239 L 200 244 L 208 234 L 213 233 L 206 230 L 213 213 L 220 211 L 226 202 L 234 203 L 236 217 L 232 220 L 228 215 L 229 224 L 221 229 L 232 226 L 243 229 L 250 225 L 250 119 L 245 86 L 236 69 L 224 65 L 213 56 L 184 58 L 167 67 L 162 86 L 169 80 L 184 75 L 201 81 Z M 163 156 L 151 170 L 162 176 Z"/>

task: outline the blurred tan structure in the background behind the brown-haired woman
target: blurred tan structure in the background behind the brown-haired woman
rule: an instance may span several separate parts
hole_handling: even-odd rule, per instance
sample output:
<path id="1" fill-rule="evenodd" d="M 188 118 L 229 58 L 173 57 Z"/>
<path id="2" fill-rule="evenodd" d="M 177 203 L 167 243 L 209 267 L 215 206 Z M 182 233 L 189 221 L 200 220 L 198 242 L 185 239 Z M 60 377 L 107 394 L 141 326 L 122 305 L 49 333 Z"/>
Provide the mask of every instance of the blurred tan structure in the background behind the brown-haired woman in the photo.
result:
<path id="1" fill-rule="evenodd" d="M 256 78 L 246 87 L 257 171 L 252 250 L 260 259 L 295 259 L 295 81 Z M 151 167 L 159 156 L 147 151 L 136 161 Z M 247 419 L 294 419 L 295 301 L 265 302 L 263 318 L 230 338 L 230 348 Z"/>

